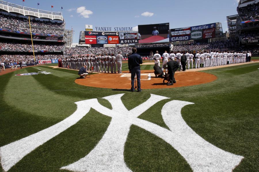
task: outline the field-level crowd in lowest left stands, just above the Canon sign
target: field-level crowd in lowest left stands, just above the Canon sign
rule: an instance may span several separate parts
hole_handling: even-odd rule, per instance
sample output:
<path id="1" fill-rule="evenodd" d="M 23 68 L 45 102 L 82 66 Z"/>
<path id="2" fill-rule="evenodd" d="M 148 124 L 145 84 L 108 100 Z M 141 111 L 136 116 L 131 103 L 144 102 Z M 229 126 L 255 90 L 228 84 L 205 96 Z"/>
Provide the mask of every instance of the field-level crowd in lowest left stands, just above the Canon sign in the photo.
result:
<path id="1" fill-rule="evenodd" d="M 59 59 L 64 58 L 63 55 L 35 55 L 36 60 L 49 60 L 49 59 Z M 22 62 L 22 64 L 33 64 L 33 55 L 0 55 L 0 62 L 5 65 L 10 65 L 11 62 Z"/>

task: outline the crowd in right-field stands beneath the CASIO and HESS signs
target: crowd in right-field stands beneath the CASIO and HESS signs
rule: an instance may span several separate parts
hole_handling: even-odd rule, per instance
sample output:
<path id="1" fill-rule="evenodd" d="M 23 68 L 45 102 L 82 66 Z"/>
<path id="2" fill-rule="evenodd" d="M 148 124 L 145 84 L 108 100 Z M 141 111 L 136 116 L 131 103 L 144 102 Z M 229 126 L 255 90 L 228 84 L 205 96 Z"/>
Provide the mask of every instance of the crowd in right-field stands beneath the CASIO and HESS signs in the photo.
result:
<path id="1" fill-rule="evenodd" d="M 220 50 L 226 48 L 235 48 L 238 44 L 236 41 L 216 41 L 210 43 L 197 43 L 197 44 L 187 44 L 187 45 L 175 45 L 173 51 L 193 51 L 193 50 Z"/>

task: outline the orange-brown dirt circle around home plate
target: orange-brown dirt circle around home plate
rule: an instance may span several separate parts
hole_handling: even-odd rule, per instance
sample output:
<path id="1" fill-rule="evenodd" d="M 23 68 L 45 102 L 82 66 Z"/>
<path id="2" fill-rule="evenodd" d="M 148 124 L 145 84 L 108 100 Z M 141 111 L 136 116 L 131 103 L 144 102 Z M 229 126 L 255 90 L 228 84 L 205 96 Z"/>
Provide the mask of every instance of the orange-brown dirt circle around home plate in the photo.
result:
<path id="1" fill-rule="evenodd" d="M 89 78 L 76 79 L 75 83 L 88 87 L 111 88 L 111 89 L 130 89 L 131 77 L 130 73 L 122 74 L 99 73 L 90 75 Z M 141 89 L 160 89 L 172 87 L 184 87 L 191 85 L 199 85 L 209 83 L 217 79 L 215 75 L 203 72 L 176 72 L 176 83 L 167 86 L 163 83 L 163 79 L 155 78 L 154 73 L 150 70 L 141 71 Z"/>

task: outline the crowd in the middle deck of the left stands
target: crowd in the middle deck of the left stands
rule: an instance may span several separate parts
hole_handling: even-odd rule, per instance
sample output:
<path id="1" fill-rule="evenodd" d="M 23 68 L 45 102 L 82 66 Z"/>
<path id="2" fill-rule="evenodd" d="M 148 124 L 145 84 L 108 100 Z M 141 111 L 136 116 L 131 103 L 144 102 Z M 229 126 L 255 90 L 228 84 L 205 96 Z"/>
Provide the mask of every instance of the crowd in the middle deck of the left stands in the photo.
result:
<path id="1" fill-rule="evenodd" d="M 34 50 L 61 51 L 64 48 L 64 44 L 33 44 L 33 47 Z M 30 43 L 0 42 L 0 50 L 2 51 L 32 51 L 33 47 Z"/>

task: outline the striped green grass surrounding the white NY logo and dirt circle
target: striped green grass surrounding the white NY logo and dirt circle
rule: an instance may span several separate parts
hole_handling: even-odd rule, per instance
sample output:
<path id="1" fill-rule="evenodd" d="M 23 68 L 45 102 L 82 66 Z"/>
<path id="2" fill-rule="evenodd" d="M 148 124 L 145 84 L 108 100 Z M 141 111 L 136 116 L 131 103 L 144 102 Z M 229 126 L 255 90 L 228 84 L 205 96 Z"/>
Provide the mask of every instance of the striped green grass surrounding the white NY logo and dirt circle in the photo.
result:
<path id="1" fill-rule="evenodd" d="M 52 74 L 15 76 L 37 72 L 37 68 Z M 233 171 L 256 172 L 259 169 L 258 68 L 259 64 L 253 63 L 206 70 L 203 72 L 218 79 L 202 85 L 147 89 L 141 93 L 77 85 L 74 81 L 78 75 L 72 70 L 37 66 L 14 71 L 0 76 L 0 146 L 64 120 L 76 111 L 74 102 L 98 98 L 102 105 L 111 108 L 102 97 L 125 93 L 122 101 L 130 110 L 152 93 L 170 99 L 159 101 L 138 118 L 168 129 L 161 116 L 163 105 L 171 100 L 193 102 L 195 104 L 186 105 L 181 111 L 188 126 L 207 142 L 243 156 Z M 141 69 L 153 69 L 153 65 Z M 123 70 L 127 70 L 127 64 L 123 64 Z M 102 138 L 110 121 L 111 117 L 91 109 L 79 122 L 33 150 L 9 171 L 66 171 L 60 167 L 85 157 Z M 192 171 L 170 144 L 134 125 L 125 144 L 124 161 L 133 172 Z M 0 171 L 3 171 L 1 167 Z"/>

